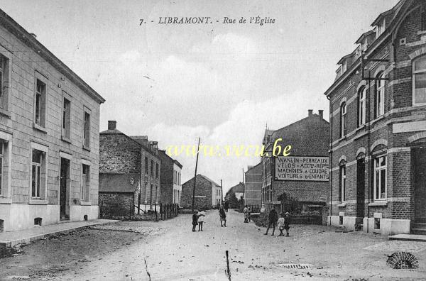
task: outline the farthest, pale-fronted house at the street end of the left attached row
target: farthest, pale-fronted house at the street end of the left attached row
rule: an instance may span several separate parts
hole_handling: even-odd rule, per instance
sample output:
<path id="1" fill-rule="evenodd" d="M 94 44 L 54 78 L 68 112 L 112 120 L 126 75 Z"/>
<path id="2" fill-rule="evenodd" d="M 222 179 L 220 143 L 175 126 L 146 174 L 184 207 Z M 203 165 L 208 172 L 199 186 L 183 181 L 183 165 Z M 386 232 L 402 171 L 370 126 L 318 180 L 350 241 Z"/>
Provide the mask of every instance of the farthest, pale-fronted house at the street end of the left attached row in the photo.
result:
<path id="1" fill-rule="evenodd" d="M 160 201 L 163 204 L 180 205 L 180 195 L 182 194 L 182 184 L 180 183 L 182 164 L 178 160 L 170 158 L 165 153 L 165 150 L 159 150 L 158 157 L 161 160 Z"/>

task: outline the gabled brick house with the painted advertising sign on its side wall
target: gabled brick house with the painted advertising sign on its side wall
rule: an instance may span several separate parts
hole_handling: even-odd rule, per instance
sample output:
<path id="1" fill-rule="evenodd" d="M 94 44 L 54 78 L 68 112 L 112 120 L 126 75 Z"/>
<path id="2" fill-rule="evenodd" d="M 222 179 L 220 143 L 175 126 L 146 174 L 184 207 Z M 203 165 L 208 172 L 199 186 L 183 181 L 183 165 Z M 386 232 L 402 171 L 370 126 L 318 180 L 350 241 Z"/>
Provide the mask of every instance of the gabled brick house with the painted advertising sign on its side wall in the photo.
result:
<path id="1" fill-rule="evenodd" d="M 268 155 L 261 158 L 262 206 L 282 211 L 283 193 L 297 199 L 303 209 L 320 208 L 328 197 L 329 123 L 319 114 L 308 116 L 276 131 L 266 130 L 263 145 Z M 275 141 L 291 145 L 290 155 L 271 157 Z M 281 154 L 282 155 L 282 154 Z"/>

